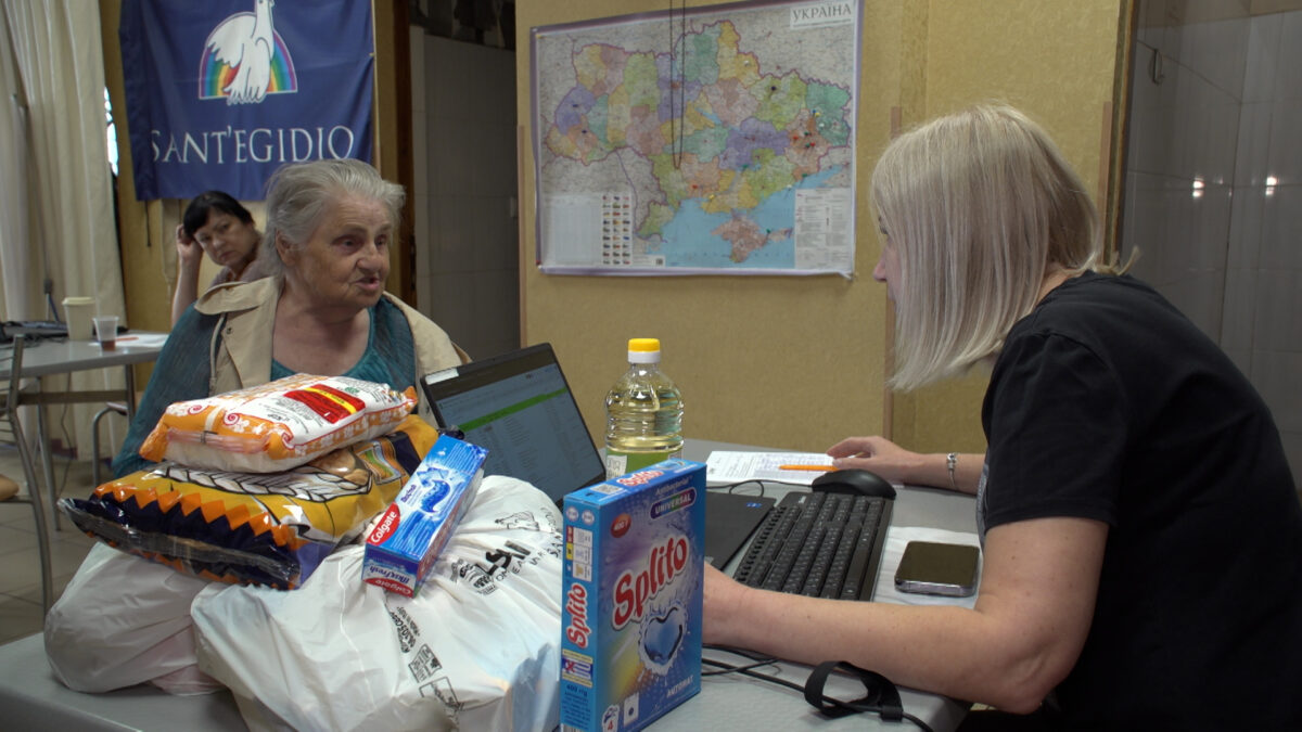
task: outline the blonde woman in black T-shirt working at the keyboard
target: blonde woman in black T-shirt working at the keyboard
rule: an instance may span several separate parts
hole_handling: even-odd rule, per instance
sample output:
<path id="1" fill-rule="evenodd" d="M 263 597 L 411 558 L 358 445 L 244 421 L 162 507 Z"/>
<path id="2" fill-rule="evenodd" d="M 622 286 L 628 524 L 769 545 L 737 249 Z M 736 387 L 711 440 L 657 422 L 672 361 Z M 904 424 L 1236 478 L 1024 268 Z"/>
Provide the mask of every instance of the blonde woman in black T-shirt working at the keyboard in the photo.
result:
<path id="1" fill-rule="evenodd" d="M 976 494 L 975 608 L 784 595 L 707 565 L 706 642 L 984 702 L 984 728 L 1302 729 L 1302 505 L 1279 431 L 1216 344 L 1100 271 L 1085 190 L 997 106 L 901 135 L 872 175 L 893 386 L 992 361 L 988 449 L 828 452 Z"/>

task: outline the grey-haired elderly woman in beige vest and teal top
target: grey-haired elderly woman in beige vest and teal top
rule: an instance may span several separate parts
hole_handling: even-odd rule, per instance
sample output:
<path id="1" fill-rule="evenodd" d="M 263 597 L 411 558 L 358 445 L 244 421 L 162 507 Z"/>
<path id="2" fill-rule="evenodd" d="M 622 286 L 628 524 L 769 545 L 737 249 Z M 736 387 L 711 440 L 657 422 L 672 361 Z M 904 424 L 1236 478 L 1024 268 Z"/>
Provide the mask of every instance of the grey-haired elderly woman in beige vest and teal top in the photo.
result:
<path id="1" fill-rule="evenodd" d="M 115 474 L 147 465 L 137 451 L 176 401 L 297 373 L 401 391 L 466 361 L 441 328 L 384 292 L 402 199 L 401 186 L 358 160 L 276 171 L 258 257 L 273 275 L 210 289 L 177 322 Z"/>

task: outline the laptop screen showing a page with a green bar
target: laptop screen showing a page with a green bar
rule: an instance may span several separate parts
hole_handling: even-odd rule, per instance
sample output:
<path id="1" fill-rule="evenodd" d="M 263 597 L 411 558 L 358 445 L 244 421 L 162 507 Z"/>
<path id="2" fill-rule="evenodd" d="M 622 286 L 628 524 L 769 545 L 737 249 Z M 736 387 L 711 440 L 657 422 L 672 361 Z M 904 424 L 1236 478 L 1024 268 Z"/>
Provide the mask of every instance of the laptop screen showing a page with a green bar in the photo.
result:
<path id="1" fill-rule="evenodd" d="M 518 478 L 557 503 L 605 479 L 551 344 L 435 371 L 421 386 L 439 427 L 488 449 L 484 475 Z"/>

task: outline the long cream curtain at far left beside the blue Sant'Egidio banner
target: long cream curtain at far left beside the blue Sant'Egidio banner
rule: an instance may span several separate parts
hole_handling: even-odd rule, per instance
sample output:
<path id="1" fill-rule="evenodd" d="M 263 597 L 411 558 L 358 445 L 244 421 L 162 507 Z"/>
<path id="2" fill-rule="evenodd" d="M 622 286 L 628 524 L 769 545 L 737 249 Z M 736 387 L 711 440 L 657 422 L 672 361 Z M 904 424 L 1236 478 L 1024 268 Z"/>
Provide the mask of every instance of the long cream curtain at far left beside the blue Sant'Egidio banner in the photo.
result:
<path id="1" fill-rule="evenodd" d="M 47 277 L 56 303 L 65 296 L 92 296 L 99 313 L 122 317 L 99 7 L 85 0 L 5 0 L 0 13 L 0 151 L 10 156 L 0 171 L 5 317 L 47 318 Z M 23 109 L 26 130 L 18 124 Z M 34 302 L 40 303 L 35 311 Z M 72 387 L 104 388 L 105 382 L 120 386 L 121 370 L 77 374 Z M 99 406 L 51 409 L 51 435 L 90 445 L 90 415 Z"/>

